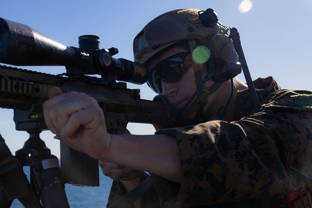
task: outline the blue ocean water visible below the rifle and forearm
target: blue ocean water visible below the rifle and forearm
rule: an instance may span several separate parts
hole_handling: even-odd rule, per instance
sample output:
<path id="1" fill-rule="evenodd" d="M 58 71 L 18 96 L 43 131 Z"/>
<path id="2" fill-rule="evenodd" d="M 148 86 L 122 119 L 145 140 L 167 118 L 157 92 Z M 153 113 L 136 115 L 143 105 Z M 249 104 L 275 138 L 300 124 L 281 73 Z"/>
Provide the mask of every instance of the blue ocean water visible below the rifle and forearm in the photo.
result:
<path id="1" fill-rule="evenodd" d="M 29 167 L 23 167 L 23 169 L 28 177 Z M 100 168 L 99 176 L 99 187 L 81 187 L 65 184 L 65 192 L 71 208 L 106 208 L 112 180 L 109 177 L 104 176 Z M 11 205 L 11 208 L 23 207 L 24 206 L 17 199 L 14 200 Z"/>

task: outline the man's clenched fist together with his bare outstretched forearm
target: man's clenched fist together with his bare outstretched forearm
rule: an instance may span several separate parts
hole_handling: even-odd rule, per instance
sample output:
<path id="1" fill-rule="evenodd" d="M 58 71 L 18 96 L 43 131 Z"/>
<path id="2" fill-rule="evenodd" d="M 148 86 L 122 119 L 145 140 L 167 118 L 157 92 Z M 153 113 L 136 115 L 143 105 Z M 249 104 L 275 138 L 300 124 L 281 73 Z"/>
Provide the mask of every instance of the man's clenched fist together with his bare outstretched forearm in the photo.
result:
<path id="1" fill-rule="evenodd" d="M 85 93 L 49 90 L 43 104 L 47 127 L 60 133 L 73 149 L 95 159 L 181 181 L 178 143 L 168 135 L 109 134 L 104 113 L 94 98 Z"/>

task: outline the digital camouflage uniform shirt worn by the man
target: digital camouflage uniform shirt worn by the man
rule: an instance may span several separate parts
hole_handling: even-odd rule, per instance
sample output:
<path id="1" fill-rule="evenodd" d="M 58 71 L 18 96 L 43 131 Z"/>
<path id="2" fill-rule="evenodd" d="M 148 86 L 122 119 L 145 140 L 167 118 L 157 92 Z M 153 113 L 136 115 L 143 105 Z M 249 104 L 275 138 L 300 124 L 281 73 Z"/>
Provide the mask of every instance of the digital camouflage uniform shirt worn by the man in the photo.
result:
<path id="1" fill-rule="evenodd" d="M 258 113 L 246 89 L 237 94 L 233 122 L 211 120 L 157 132 L 177 138 L 182 184 L 154 175 L 154 188 L 141 207 L 269 198 L 290 193 L 301 177 L 312 179 L 312 92 L 277 93 L 272 77 L 254 85 L 262 106 Z M 122 196 L 118 186 L 113 183 L 108 206 Z"/>

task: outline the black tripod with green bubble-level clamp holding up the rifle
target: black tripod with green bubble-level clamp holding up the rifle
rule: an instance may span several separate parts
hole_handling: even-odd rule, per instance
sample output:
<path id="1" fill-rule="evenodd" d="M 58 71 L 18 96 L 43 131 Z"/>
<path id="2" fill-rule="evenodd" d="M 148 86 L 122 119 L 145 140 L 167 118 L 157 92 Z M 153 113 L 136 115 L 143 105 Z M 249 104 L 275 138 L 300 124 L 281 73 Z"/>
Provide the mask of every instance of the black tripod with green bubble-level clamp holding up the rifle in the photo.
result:
<path id="1" fill-rule="evenodd" d="M 58 163 L 58 158 L 51 155 L 51 150 L 46 147 L 44 141 L 42 141 L 39 136 L 42 130 L 47 129 L 41 106 L 42 105 L 32 105 L 30 110 L 14 110 L 13 120 L 16 124 L 16 130 L 27 131 L 27 133 L 29 133 L 28 140 L 24 143 L 23 148 L 15 152 L 15 156 L 20 166 L 30 166 L 29 188 L 32 190 L 29 192 L 35 192 L 35 197 L 38 199 L 37 201 L 39 201 L 39 199 L 41 200 L 43 208 L 69 208 L 65 185 L 61 179 L 61 168 Z M 11 183 L 7 184 L 10 185 Z M 7 193 L 7 188 L 3 183 L 2 186 Z M 8 185 L 6 186 L 9 187 Z M 15 190 L 17 189 L 15 188 Z M 3 191 L 0 190 L 0 200 L 3 198 L 1 196 L 2 193 Z M 26 198 L 28 198 L 27 196 L 28 195 L 26 195 Z M 19 197 L 16 198 L 20 200 Z M 25 198 L 25 195 L 23 198 Z M 7 203 L 7 207 L 5 208 L 10 207 L 11 203 Z M 0 204 L 2 204 L 1 201 Z M 27 199 L 26 203 L 22 202 L 22 204 L 25 207 L 38 207 L 37 204 L 31 205 Z M 39 207 L 41 207 L 40 203 Z"/>

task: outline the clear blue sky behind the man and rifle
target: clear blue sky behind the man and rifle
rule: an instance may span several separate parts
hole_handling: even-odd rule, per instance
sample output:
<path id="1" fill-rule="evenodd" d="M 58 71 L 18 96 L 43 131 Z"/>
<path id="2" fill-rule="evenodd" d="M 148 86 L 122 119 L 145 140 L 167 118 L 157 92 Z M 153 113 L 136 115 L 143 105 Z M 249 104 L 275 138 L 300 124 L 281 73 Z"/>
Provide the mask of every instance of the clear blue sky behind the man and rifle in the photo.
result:
<path id="1" fill-rule="evenodd" d="M 236 27 L 252 79 L 272 75 L 282 89 L 312 90 L 310 70 L 312 42 L 312 1 L 253 0 L 247 13 L 238 9 L 241 0 L 97 0 L 97 1 L 2 1 L 0 17 L 25 24 L 63 43 L 78 47 L 78 36 L 100 36 L 100 48 L 118 48 L 115 58 L 133 60 L 132 41 L 139 31 L 158 15 L 181 8 L 213 8 L 219 21 Z M 287 3 L 286 3 L 287 2 Z M 19 68 L 59 74 L 65 67 L 20 66 Z M 238 78 L 244 81 L 243 75 Z M 153 99 L 144 85 L 141 98 Z M 15 131 L 13 111 L 0 109 L 0 133 L 11 152 L 22 148 L 26 132 Z M 149 124 L 129 124 L 134 134 L 153 134 Z M 48 131 L 41 133 L 52 154 L 59 157 L 59 141 Z"/>

